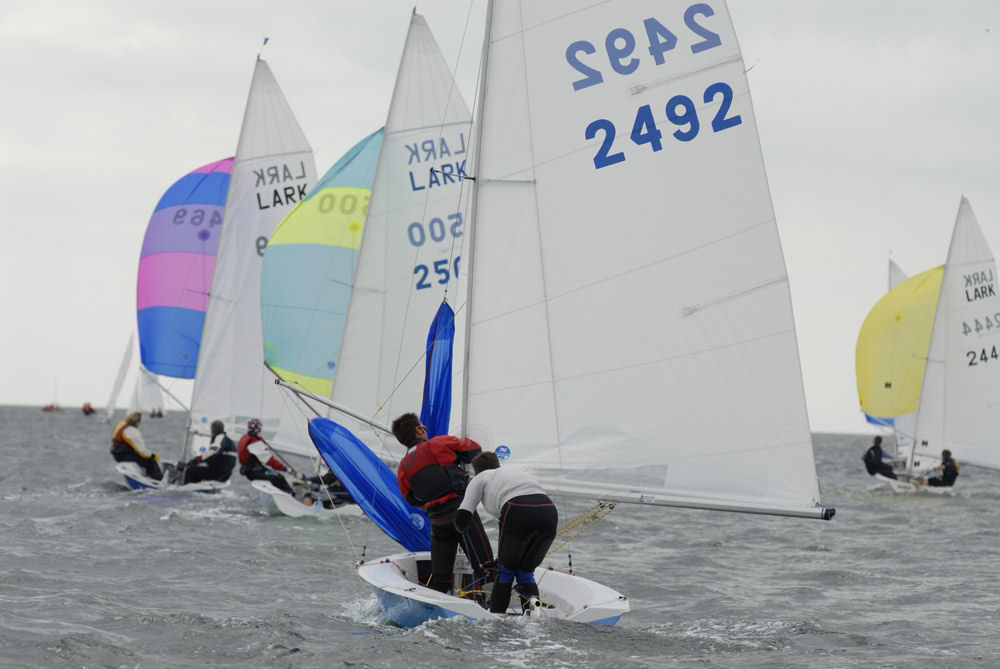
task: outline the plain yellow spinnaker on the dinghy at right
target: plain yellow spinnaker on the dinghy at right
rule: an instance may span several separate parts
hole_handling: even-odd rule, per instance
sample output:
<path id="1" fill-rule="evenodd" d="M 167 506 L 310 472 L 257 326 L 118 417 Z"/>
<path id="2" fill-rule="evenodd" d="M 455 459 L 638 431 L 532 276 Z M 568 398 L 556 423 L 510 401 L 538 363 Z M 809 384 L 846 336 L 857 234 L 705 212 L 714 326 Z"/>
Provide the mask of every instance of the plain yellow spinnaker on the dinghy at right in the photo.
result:
<path id="1" fill-rule="evenodd" d="M 899 284 L 879 300 L 858 334 L 861 409 L 895 418 L 917 410 L 944 265 Z"/>

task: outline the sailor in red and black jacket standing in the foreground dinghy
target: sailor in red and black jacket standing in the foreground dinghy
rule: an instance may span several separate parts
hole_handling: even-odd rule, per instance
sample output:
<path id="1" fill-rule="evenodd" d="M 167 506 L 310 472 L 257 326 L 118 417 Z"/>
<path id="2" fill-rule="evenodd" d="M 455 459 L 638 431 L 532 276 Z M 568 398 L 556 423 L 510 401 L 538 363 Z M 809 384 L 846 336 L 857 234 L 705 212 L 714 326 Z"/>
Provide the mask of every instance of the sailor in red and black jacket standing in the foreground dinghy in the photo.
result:
<path id="1" fill-rule="evenodd" d="M 427 429 L 416 414 L 405 413 L 392 422 L 392 433 L 409 449 L 399 462 L 396 476 L 406 501 L 427 512 L 431 520 L 431 579 L 428 587 L 448 592 L 452 587 L 455 551 L 461 544 L 479 581 L 487 576 L 485 563 L 493 562 L 493 547 L 479 514 L 473 513 L 466 531 L 455 529 L 455 512 L 462 503 L 469 476 L 463 464 L 482 449 L 471 439 L 442 435 L 427 439 Z"/>

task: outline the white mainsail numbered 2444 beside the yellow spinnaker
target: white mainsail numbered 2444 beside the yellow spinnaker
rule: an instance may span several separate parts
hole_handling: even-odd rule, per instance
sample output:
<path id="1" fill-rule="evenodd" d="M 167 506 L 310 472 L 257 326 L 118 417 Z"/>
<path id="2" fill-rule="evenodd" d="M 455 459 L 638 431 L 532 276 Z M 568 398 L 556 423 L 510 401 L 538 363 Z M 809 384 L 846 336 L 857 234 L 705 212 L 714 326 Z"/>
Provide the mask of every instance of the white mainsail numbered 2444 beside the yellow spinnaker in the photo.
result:
<path id="1" fill-rule="evenodd" d="M 950 449 L 961 463 L 1000 468 L 1000 298 L 996 262 L 962 198 L 917 412 L 916 452 Z"/>

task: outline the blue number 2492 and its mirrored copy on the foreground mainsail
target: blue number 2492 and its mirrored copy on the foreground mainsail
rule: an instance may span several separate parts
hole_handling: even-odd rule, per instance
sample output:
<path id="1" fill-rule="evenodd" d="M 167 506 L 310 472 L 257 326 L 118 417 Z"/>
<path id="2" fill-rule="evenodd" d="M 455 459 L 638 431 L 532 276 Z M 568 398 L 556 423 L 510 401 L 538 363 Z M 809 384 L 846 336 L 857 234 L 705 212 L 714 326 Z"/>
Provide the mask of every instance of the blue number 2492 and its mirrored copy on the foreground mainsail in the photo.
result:
<path id="1" fill-rule="evenodd" d="M 710 17 L 714 14 L 715 10 L 705 3 L 693 4 L 684 12 L 684 25 L 692 34 L 701 38 L 700 41 L 691 44 L 692 53 L 697 54 L 721 46 L 722 38 L 719 34 L 700 23 L 704 17 Z M 643 28 L 653 63 L 663 65 L 666 62 L 668 52 L 677 48 L 677 35 L 653 17 L 643 20 Z M 637 43 L 636 36 L 626 28 L 615 28 L 607 34 L 604 40 L 604 51 L 611 70 L 619 75 L 627 76 L 638 69 L 641 61 L 639 58 L 633 57 Z M 566 48 L 566 62 L 574 70 L 584 75 L 583 78 L 573 82 L 573 90 L 583 90 L 604 82 L 604 73 L 599 69 L 602 66 L 594 62 L 595 59 L 588 58 L 597 52 L 597 47 L 586 40 L 573 42 Z M 711 119 L 712 132 L 721 132 L 743 122 L 739 114 L 730 114 L 733 89 L 729 84 L 719 81 L 709 85 L 699 93 L 705 104 L 714 103 L 721 97 L 719 107 Z M 667 100 L 665 112 L 667 120 L 677 126 L 677 129 L 672 133 L 674 139 L 680 142 L 690 142 L 698 136 L 701 131 L 702 119 L 698 117 L 697 106 L 690 97 L 682 94 L 674 95 Z M 584 134 L 588 140 L 594 139 L 598 135 L 601 136 L 600 147 L 594 156 L 595 169 L 625 161 L 624 151 L 612 152 L 615 137 L 618 134 L 618 128 L 613 121 L 604 118 L 596 119 L 587 125 Z M 636 146 L 649 144 L 649 148 L 653 152 L 663 149 L 663 131 L 657 127 L 650 105 L 643 105 L 637 110 L 629 138 Z"/>

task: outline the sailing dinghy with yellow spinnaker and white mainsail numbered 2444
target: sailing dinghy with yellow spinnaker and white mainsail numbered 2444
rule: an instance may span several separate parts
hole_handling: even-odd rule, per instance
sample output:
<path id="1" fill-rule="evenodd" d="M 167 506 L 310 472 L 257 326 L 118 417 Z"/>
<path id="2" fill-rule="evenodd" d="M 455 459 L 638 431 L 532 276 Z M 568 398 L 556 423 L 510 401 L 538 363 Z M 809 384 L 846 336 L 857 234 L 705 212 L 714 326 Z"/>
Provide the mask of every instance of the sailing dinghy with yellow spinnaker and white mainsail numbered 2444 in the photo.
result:
<path id="1" fill-rule="evenodd" d="M 897 472 L 900 478 L 876 475 L 893 492 L 950 493 L 953 488 L 914 482 L 940 464 L 944 449 L 961 464 L 1000 469 L 1000 446 L 995 438 L 1000 416 L 993 399 L 1000 393 L 1000 297 L 995 277 L 993 253 L 963 197 L 944 267 L 897 286 L 872 309 L 862 326 L 859 392 L 862 362 L 872 359 L 862 359 L 863 347 L 892 352 L 892 339 L 901 342 L 896 366 L 883 368 L 881 378 L 872 377 L 874 383 L 868 384 L 869 389 L 878 390 L 870 396 L 881 402 L 877 410 L 882 414 L 914 414 L 904 465 Z M 906 292 L 897 295 L 901 288 Z M 928 303 L 933 305 L 930 309 Z M 878 327 L 890 321 L 894 325 Z M 913 378 L 922 380 L 915 403 L 906 384 Z"/>

